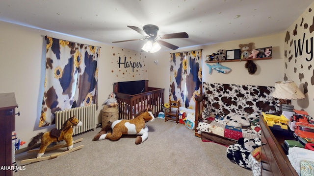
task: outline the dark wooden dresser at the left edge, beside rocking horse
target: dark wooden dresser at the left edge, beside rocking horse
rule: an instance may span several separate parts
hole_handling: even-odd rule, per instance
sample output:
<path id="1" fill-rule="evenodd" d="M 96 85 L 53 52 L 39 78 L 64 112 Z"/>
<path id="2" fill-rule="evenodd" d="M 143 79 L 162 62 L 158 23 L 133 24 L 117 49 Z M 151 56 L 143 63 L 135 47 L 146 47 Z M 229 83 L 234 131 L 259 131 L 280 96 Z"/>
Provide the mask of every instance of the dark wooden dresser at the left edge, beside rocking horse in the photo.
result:
<path id="1" fill-rule="evenodd" d="M 10 167 L 13 161 L 12 132 L 15 131 L 14 93 L 0 93 L 0 166 Z M 12 176 L 10 169 L 0 170 L 0 176 Z"/>

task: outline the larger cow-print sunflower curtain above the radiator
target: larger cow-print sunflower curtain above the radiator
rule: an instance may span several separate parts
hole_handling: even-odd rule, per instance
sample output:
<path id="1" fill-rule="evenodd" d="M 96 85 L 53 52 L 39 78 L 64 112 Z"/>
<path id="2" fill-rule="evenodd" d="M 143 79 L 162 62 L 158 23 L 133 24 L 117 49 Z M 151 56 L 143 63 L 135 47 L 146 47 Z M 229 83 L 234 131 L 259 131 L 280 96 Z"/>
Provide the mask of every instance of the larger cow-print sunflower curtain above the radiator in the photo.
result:
<path id="1" fill-rule="evenodd" d="M 39 127 L 54 124 L 54 112 L 97 104 L 100 47 L 46 37 L 46 77 Z"/>

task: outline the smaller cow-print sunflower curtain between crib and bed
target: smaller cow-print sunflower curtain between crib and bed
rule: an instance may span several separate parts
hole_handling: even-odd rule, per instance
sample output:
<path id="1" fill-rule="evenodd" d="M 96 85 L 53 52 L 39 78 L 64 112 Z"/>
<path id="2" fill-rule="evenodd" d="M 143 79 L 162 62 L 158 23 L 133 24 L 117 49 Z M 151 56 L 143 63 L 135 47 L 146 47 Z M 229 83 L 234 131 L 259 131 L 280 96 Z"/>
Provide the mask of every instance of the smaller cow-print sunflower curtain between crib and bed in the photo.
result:
<path id="1" fill-rule="evenodd" d="M 171 53 L 169 100 L 195 109 L 195 97 L 202 92 L 202 50 Z"/>

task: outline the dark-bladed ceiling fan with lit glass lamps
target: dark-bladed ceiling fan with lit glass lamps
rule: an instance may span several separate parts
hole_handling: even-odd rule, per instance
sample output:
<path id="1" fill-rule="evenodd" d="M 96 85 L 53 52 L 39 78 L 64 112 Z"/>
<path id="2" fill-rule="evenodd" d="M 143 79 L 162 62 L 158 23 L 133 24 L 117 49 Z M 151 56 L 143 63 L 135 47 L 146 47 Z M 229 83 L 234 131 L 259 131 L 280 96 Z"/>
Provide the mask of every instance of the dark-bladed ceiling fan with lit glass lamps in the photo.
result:
<path id="1" fill-rule="evenodd" d="M 129 26 L 129 25 L 128 25 L 128 27 L 135 30 L 139 34 L 142 34 L 143 36 L 145 36 L 145 38 L 144 39 L 131 39 L 131 40 L 124 40 L 124 41 L 116 41 L 116 42 L 112 42 L 112 43 L 129 42 L 129 41 L 137 41 L 137 40 L 143 41 L 145 39 L 148 39 L 148 43 L 151 42 L 150 45 L 152 47 L 154 47 L 154 44 L 157 43 L 157 45 L 161 44 L 161 45 L 164 45 L 170 49 L 176 50 L 179 48 L 179 46 L 176 46 L 174 44 L 170 44 L 168 42 L 164 42 L 161 39 L 188 38 L 188 34 L 186 32 L 164 34 L 164 35 L 158 35 L 157 36 L 157 32 L 159 30 L 159 27 L 157 25 L 153 25 L 153 24 L 144 25 L 143 29 L 136 27 L 136 26 Z M 143 46 L 142 49 L 145 50 L 145 45 Z M 160 46 L 159 46 L 159 49 L 160 49 Z M 157 50 L 159 50 L 159 49 L 157 49 Z M 145 51 L 147 51 L 147 50 L 145 50 Z"/>

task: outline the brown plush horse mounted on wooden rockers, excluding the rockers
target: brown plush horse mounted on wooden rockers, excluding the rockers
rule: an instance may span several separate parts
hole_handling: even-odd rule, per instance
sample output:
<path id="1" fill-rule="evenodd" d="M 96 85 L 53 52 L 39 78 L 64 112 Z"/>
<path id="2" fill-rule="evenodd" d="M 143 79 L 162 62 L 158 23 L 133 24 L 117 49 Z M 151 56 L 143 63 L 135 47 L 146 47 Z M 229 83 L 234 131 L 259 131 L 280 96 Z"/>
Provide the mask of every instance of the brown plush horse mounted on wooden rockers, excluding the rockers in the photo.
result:
<path id="1" fill-rule="evenodd" d="M 46 148 L 52 143 L 61 140 L 65 140 L 67 143 L 68 150 L 73 148 L 73 127 L 82 126 L 82 122 L 79 121 L 76 117 L 71 117 L 64 122 L 62 129 L 52 129 L 51 132 L 40 132 L 35 137 L 31 139 L 28 144 L 28 147 L 35 145 L 39 139 L 41 141 L 40 149 L 37 154 L 37 158 L 40 158 L 44 153 Z"/>

